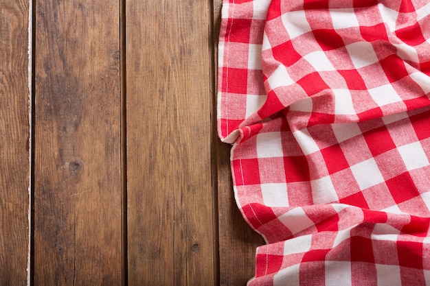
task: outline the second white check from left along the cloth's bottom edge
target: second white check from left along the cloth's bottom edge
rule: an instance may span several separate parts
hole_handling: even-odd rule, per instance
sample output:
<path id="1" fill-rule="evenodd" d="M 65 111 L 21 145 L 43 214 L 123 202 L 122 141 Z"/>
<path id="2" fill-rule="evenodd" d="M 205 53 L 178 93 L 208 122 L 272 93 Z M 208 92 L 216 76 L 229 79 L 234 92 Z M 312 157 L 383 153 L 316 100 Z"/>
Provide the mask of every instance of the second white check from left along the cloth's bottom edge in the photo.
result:
<path id="1" fill-rule="evenodd" d="M 324 274 L 326 285 L 352 285 L 350 261 L 326 261 Z"/>

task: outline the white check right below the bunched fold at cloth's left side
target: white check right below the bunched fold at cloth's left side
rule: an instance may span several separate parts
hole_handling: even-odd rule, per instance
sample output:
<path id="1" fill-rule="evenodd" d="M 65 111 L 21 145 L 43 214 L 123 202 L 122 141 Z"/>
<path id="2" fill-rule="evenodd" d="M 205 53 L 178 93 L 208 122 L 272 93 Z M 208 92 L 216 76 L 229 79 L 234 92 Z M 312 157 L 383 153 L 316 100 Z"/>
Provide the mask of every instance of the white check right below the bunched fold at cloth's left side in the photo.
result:
<path id="1" fill-rule="evenodd" d="M 266 132 L 257 135 L 258 158 L 282 157 L 282 140 L 280 132 Z"/>

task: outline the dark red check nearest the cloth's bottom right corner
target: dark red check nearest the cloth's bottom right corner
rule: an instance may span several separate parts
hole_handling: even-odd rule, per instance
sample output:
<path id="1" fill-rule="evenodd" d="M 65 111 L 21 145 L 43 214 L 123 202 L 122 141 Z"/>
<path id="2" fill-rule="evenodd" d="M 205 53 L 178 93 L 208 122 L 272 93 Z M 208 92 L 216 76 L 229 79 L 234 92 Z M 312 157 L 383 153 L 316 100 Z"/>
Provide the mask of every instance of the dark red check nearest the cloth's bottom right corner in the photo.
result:
<path id="1" fill-rule="evenodd" d="M 400 266 L 422 269 L 422 243 L 397 241 L 397 252 Z"/>

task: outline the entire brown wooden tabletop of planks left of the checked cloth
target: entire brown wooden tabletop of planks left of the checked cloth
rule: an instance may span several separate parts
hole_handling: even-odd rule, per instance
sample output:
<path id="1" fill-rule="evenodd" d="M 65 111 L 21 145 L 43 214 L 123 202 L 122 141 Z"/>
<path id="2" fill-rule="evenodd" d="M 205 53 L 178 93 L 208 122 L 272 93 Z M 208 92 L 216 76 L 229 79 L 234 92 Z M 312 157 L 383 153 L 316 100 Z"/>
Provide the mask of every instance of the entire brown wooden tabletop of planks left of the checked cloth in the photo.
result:
<path id="1" fill-rule="evenodd" d="M 216 136 L 220 6 L 0 0 L 0 285 L 253 276 Z"/>

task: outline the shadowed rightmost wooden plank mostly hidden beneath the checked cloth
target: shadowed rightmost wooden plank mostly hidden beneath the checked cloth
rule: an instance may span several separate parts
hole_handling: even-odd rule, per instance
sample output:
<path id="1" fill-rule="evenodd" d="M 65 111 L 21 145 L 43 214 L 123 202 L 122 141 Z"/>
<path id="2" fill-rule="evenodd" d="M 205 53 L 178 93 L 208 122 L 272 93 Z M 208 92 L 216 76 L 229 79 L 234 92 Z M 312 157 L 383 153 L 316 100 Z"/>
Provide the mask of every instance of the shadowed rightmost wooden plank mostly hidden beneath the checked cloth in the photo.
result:
<path id="1" fill-rule="evenodd" d="M 218 45 L 222 0 L 214 0 L 214 46 Z M 217 50 L 215 50 L 217 53 Z M 215 69 L 216 60 L 215 56 Z M 214 143 L 218 171 L 218 228 L 220 285 L 247 285 L 255 274 L 255 252 L 264 239 L 245 222 L 234 199 L 230 146 Z"/>

